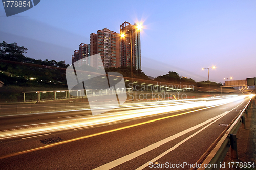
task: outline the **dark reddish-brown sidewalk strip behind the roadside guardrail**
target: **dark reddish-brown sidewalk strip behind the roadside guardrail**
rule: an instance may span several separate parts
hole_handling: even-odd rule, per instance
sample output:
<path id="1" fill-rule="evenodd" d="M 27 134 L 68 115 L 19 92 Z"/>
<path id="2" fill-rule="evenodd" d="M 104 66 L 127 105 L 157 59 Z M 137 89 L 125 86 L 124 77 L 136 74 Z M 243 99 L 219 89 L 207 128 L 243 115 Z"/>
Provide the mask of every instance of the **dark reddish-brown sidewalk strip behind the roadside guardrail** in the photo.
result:
<path id="1" fill-rule="evenodd" d="M 228 153 L 223 161 L 225 162 L 225 168 L 227 169 L 256 169 L 256 99 L 255 97 L 251 100 L 251 108 L 248 111 L 248 116 L 245 115 L 246 129 L 240 126 L 237 132 L 237 148 L 238 148 L 238 159 L 231 158 L 231 149 L 229 148 Z M 231 162 L 254 162 L 255 168 L 231 168 L 228 163 Z M 231 163 L 232 165 L 232 163 Z"/>

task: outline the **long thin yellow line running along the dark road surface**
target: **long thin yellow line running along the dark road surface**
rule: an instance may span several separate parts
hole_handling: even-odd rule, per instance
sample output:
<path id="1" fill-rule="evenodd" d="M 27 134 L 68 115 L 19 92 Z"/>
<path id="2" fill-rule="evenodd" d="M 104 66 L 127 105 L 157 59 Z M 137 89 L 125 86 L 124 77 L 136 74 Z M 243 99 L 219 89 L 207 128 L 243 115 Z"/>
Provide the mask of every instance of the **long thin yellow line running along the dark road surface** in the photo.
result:
<path id="1" fill-rule="evenodd" d="M 224 104 L 227 104 L 227 103 L 224 103 Z M 94 137 L 94 136 L 98 136 L 98 135 L 102 135 L 102 134 L 106 134 L 106 133 L 111 133 L 111 132 L 115 132 L 115 131 L 119 131 L 119 130 L 123 130 L 123 129 L 127 129 L 127 128 L 132 128 L 132 127 L 136 127 L 136 126 L 139 126 L 139 125 L 144 125 L 144 124 L 156 122 L 158 120 L 163 120 L 163 119 L 167 119 L 167 118 L 171 118 L 171 117 L 176 117 L 176 116 L 180 116 L 180 115 L 184 115 L 184 114 L 188 114 L 188 113 L 192 113 L 192 112 L 196 112 L 196 111 L 200 111 L 200 110 L 205 110 L 205 109 L 209 109 L 209 108 L 212 108 L 212 107 L 221 106 L 221 105 L 224 105 L 224 104 L 219 104 L 219 105 L 216 105 L 216 106 L 210 106 L 210 107 L 206 107 L 206 108 L 192 110 L 192 111 L 188 111 L 188 112 L 184 112 L 184 113 L 180 113 L 180 114 L 176 114 L 176 115 L 170 115 L 170 116 L 166 116 L 166 117 L 161 117 L 161 118 L 149 120 L 149 121 L 146 121 L 146 122 L 142 122 L 142 123 L 138 123 L 138 124 L 134 124 L 134 125 L 130 125 L 130 126 L 125 126 L 125 127 L 121 127 L 121 128 L 117 128 L 117 129 L 112 129 L 112 130 L 109 130 L 109 131 L 99 132 L 99 133 L 95 133 L 95 134 L 92 134 L 92 135 L 87 135 L 87 136 L 83 136 L 83 137 L 79 137 L 79 138 L 75 138 L 75 139 L 70 139 L 70 140 L 66 140 L 66 141 L 62 141 L 62 142 L 58 142 L 58 143 L 53 143 L 53 144 L 50 144 L 50 145 L 46 145 L 44 147 L 38 147 L 38 148 L 26 150 L 26 151 L 21 151 L 21 152 L 13 153 L 13 154 L 10 154 L 10 155 L 5 155 L 5 156 L 0 157 L 0 159 L 4 159 L 4 158 L 16 156 L 16 155 L 21 155 L 21 154 L 25 154 L 25 153 L 29 153 L 29 152 L 33 152 L 33 151 L 38 151 L 38 150 L 41 150 L 41 149 L 46 149 L 46 148 L 54 147 L 54 146 L 57 146 L 57 145 L 60 145 L 60 144 L 65 144 L 65 143 L 69 143 L 69 142 L 73 142 L 73 141 L 77 141 L 77 140 L 82 140 L 82 139 L 86 139 L 86 138 L 90 138 L 90 137 Z"/>

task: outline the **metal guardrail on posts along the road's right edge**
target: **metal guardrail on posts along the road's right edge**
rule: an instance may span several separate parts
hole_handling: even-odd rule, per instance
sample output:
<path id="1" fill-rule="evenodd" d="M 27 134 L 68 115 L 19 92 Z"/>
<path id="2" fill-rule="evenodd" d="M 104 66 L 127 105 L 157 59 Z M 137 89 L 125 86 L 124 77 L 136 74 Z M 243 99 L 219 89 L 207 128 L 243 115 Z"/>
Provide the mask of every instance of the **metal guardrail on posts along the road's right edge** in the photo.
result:
<path id="1" fill-rule="evenodd" d="M 196 162 L 196 164 L 201 164 L 201 168 L 194 167 L 194 168 L 191 168 L 190 170 L 220 169 L 220 165 L 223 162 L 230 146 L 231 146 L 232 158 L 237 159 L 238 155 L 237 155 L 236 133 L 241 123 L 243 124 L 243 128 L 245 128 L 245 117 L 243 115 L 244 113 L 248 114 L 248 109 L 250 108 L 250 105 L 251 105 L 250 104 L 251 99 L 247 102 L 247 104 L 241 110 L 241 112 L 232 120 L 232 122 L 228 125 L 228 127 L 222 132 L 222 134 L 214 141 L 214 143 L 211 144 L 208 150 Z M 201 163 L 202 161 L 203 163 Z M 217 166 L 211 166 L 211 167 L 206 166 L 205 168 L 204 165 L 217 165 Z"/>

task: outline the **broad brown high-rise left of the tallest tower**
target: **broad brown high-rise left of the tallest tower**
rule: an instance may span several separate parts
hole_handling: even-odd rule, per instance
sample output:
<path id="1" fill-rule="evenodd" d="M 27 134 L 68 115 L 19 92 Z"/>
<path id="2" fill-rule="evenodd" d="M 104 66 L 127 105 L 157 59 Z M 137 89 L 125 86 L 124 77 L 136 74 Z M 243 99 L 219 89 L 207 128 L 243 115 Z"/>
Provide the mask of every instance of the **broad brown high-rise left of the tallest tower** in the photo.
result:
<path id="1" fill-rule="evenodd" d="M 99 60 L 103 65 L 99 65 L 98 61 L 90 61 L 92 67 L 109 68 L 120 67 L 120 47 L 119 34 L 107 28 L 98 30 L 97 34 L 90 34 L 91 55 L 100 54 Z"/>

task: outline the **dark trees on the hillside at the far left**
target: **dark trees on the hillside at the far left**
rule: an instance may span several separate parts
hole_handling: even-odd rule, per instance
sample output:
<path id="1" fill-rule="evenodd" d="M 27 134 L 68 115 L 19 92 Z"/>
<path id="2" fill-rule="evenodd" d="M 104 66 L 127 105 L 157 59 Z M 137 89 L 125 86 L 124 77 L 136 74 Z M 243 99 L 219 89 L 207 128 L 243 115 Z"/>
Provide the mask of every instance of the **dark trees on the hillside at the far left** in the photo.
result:
<path id="1" fill-rule="evenodd" d="M 0 59 L 2 59 L 0 70 L 15 77 L 7 78 L 2 75 L 1 80 L 5 85 L 51 87 L 67 84 L 65 70 L 69 65 L 66 65 L 65 61 L 57 62 L 48 59 L 42 61 L 25 57 L 23 54 L 27 50 L 23 46 L 18 46 L 17 43 L 8 44 L 5 41 L 0 43 Z M 30 78 L 35 80 L 30 81 Z"/>

